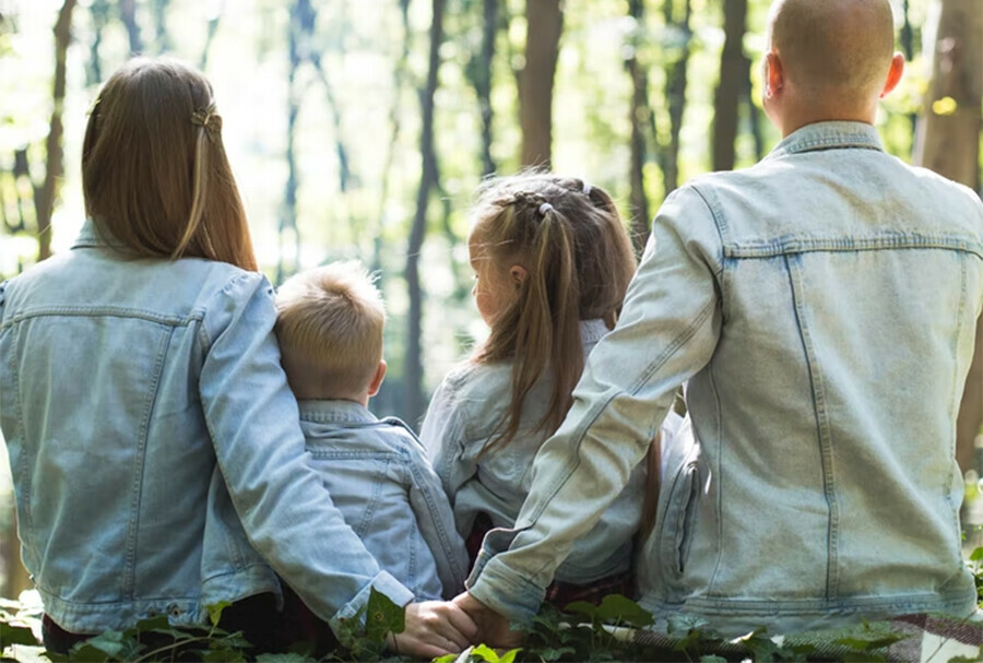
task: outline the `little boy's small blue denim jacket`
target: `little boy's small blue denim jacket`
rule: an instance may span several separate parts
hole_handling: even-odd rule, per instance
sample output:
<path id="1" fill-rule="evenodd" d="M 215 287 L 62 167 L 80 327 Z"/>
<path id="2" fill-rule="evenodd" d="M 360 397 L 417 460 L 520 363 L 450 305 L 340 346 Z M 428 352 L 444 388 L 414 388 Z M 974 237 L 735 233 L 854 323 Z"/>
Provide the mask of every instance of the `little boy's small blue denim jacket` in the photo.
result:
<path id="1" fill-rule="evenodd" d="M 331 500 L 417 601 L 464 591 L 467 553 L 423 445 L 353 401 L 300 401 L 300 428 Z"/>

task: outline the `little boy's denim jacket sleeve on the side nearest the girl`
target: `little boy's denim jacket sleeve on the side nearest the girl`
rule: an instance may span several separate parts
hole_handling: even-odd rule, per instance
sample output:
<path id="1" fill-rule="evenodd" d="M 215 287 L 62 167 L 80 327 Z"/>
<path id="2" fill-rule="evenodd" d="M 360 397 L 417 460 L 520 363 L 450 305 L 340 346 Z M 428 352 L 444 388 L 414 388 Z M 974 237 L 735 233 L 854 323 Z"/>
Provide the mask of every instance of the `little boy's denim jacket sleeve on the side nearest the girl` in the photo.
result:
<path id="1" fill-rule="evenodd" d="M 440 478 L 424 454 L 421 443 L 413 439 L 410 447 L 410 506 L 416 516 L 419 533 L 437 563 L 437 576 L 446 599 L 464 591 L 467 577 L 467 552 L 464 540 L 454 526 L 454 513 Z"/>

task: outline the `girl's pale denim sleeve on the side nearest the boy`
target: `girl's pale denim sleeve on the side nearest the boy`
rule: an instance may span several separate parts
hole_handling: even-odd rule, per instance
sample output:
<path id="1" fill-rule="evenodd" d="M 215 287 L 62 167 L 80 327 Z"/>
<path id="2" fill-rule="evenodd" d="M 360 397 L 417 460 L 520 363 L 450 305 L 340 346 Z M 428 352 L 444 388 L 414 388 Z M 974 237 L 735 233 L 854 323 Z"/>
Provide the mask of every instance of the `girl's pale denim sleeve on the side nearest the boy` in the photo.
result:
<path id="1" fill-rule="evenodd" d="M 466 413 L 452 381 L 446 379 L 430 399 L 419 439 L 451 505 L 458 490 L 477 474 L 473 454 L 466 453 Z"/>

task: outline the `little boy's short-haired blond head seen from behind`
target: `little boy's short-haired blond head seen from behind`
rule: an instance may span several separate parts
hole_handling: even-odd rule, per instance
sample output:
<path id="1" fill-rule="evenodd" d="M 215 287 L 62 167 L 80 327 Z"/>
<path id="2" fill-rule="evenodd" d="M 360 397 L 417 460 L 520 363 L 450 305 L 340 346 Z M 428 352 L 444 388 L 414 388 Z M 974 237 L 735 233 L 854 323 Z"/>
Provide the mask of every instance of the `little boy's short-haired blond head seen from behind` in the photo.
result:
<path id="1" fill-rule="evenodd" d="M 386 307 L 357 260 L 300 272 L 276 293 L 276 336 L 298 399 L 340 399 L 368 389 L 382 360 Z"/>

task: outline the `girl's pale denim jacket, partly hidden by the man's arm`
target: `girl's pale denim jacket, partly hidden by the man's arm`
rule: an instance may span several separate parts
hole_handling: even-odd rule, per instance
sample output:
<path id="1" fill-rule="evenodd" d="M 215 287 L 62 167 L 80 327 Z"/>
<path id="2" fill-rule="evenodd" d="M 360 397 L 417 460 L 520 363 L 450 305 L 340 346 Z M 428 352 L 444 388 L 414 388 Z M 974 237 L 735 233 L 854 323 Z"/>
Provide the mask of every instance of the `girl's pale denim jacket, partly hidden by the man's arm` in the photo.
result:
<path id="1" fill-rule="evenodd" d="M 584 356 L 605 333 L 603 320 L 580 323 Z M 478 458 L 508 409 L 511 381 L 511 362 L 461 365 L 437 388 L 421 428 L 421 439 L 453 505 L 458 532 L 465 537 L 482 512 L 496 528 L 514 524 L 529 495 L 533 458 L 548 437 L 536 430 L 553 389 L 546 375 L 523 403 L 516 438 Z M 643 490 L 644 467 L 638 466 L 600 522 L 573 544 L 556 571 L 557 579 L 583 584 L 628 570 Z"/>

